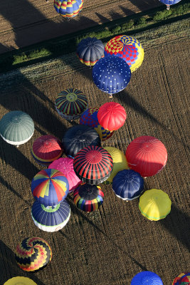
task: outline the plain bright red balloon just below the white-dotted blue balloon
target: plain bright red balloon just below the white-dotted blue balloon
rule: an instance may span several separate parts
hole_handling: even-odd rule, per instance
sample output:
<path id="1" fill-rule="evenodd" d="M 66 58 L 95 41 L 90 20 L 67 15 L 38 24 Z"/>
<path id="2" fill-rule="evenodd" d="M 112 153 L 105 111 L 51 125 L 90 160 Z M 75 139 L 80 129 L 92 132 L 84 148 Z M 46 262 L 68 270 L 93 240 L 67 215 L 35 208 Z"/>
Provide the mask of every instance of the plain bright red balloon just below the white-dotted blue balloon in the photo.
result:
<path id="1" fill-rule="evenodd" d="M 97 112 L 97 120 L 105 130 L 118 130 L 124 125 L 126 118 L 125 108 L 115 102 L 105 103 Z"/>

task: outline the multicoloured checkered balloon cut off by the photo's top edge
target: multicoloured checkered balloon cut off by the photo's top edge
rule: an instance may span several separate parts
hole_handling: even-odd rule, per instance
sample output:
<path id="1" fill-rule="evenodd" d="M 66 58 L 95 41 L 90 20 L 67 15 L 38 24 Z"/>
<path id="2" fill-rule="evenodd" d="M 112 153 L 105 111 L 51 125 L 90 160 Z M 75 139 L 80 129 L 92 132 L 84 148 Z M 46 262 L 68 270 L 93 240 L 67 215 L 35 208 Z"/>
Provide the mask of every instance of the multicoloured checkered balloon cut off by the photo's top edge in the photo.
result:
<path id="1" fill-rule="evenodd" d="M 54 7 L 61 16 L 73 18 L 83 9 L 83 0 L 54 0 Z"/>

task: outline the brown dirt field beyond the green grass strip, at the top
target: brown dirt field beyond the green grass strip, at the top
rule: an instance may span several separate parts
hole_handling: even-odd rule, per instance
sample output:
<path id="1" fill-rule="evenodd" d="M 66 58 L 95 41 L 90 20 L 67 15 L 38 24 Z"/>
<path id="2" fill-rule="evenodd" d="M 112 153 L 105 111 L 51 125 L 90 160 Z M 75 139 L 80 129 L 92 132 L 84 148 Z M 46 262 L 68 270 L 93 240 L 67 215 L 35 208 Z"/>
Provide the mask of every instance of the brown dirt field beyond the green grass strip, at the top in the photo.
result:
<path id="1" fill-rule="evenodd" d="M 159 0 L 85 0 L 73 19 L 56 13 L 53 0 L 3 1 L 0 9 L 0 53 L 63 36 L 83 28 L 152 9 Z"/>

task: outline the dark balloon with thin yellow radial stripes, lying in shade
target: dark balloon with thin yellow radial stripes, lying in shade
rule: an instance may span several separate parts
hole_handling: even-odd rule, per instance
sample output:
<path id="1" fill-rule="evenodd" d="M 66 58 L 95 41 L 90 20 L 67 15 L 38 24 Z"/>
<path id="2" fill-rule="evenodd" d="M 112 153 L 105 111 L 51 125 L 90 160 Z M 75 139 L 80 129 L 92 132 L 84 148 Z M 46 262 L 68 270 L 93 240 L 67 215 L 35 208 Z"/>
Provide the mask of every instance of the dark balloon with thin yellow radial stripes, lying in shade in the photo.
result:
<path id="1" fill-rule="evenodd" d="M 66 120 L 77 120 L 88 108 L 88 100 L 82 91 L 68 88 L 58 94 L 55 106 L 61 117 Z"/>

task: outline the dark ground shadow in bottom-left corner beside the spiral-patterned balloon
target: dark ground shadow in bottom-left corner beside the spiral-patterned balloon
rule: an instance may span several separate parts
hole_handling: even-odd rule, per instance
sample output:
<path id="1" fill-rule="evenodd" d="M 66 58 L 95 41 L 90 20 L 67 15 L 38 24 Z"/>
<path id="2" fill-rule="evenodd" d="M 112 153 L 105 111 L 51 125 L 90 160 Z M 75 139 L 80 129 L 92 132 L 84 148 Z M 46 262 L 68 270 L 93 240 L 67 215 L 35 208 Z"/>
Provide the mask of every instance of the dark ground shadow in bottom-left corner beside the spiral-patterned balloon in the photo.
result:
<path id="1" fill-rule="evenodd" d="M 32 279 L 38 285 L 45 285 L 35 273 L 29 273 L 23 271 L 17 266 L 15 254 L 9 247 L 0 240 L 0 268 L 1 268 L 1 285 L 3 285 L 7 280 L 16 277 L 23 276 Z"/>

